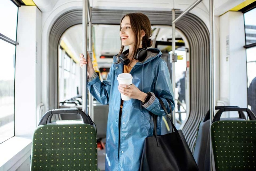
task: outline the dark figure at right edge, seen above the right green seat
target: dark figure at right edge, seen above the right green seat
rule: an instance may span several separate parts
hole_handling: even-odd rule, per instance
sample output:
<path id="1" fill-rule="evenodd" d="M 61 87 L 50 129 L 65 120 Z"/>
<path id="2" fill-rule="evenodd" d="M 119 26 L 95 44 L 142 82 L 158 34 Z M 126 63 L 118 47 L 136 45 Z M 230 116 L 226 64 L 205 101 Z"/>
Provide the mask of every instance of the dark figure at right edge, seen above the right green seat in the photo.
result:
<path id="1" fill-rule="evenodd" d="M 251 106 L 251 110 L 256 114 L 256 77 L 253 78 L 248 88 L 248 105 Z"/>

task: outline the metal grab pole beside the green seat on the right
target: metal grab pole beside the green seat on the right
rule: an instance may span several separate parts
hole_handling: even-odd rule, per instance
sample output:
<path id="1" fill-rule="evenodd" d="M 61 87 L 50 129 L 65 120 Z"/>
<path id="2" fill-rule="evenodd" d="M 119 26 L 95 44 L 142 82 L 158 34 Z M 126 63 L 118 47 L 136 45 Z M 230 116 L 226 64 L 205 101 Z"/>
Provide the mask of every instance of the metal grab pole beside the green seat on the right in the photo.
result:
<path id="1" fill-rule="evenodd" d="M 215 114 L 214 0 L 210 0 L 210 123 Z M 211 127 L 211 124 L 210 124 Z M 211 131 L 210 131 L 211 132 Z M 210 136 L 210 171 L 213 170 Z"/>

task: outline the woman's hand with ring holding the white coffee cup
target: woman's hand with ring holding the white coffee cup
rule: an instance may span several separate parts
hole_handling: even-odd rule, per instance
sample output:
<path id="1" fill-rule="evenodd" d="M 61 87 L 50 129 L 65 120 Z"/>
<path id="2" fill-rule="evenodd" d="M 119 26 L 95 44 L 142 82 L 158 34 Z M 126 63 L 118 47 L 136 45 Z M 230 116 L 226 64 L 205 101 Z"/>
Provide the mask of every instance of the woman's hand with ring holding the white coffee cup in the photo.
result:
<path id="1" fill-rule="evenodd" d="M 131 85 L 125 85 L 120 84 L 118 86 L 118 90 L 120 93 L 122 93 L 125 96 L 128 96 L 132 99 L 138 99 L 144 102 L 147 94 L 139 90 L 134 84 Z"/>

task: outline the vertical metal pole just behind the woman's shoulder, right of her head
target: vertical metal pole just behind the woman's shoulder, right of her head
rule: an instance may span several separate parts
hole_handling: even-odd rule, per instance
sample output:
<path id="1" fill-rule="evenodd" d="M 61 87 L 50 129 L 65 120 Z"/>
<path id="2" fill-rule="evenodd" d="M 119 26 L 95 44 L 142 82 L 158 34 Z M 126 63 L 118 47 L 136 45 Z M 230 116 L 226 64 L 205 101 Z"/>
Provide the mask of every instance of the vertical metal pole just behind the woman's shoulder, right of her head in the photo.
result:
<path id="1" fill-rule="evenodd" d="M 175 20 L 175 9 L 172 10 L 172 15 L 173 15 L 173 21 Z M 173 99 L 174 99 L 174 103 L 175 103 L 175 85 L 176 85 L 176 81 L 175 81 L 175 62 L 174 61 L 174 58 L 175 56 L 177 56 L 177 54 L 175 53 L 175 23 L 173 22 L 173 25 L 172 25 L 172 29 L 173 29 L 173 38 L 172 38 L 172 50 L 173 50 L 173 53 L 172 53 L 172 72 L 171 72 L 171 75 L 172 75 L 172 83 L 173 83 Z M 174 115 L 173 115 L 173 124 L 176 125 L 176 122 L 175 122 L 175 111 L 174 111 Z"/>

